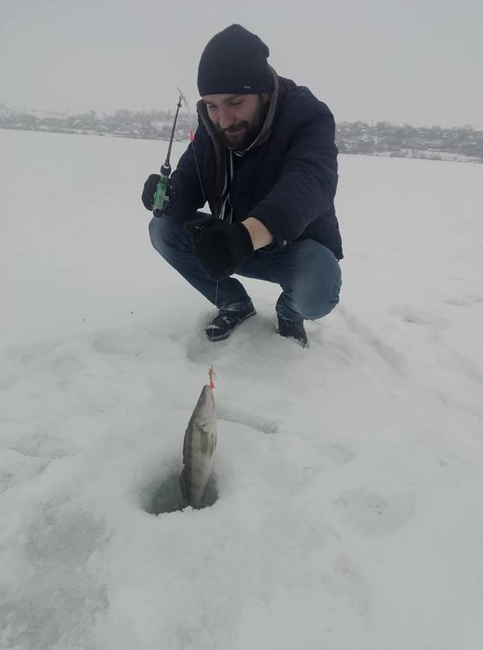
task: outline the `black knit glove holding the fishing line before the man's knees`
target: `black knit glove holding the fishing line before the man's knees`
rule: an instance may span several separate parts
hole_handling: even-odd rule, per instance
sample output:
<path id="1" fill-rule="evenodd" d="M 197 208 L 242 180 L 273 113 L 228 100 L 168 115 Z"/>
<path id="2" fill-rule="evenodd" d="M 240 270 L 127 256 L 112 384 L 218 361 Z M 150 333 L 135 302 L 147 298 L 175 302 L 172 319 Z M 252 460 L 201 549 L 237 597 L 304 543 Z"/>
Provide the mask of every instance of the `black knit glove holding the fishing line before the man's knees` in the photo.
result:
<path id="1" fill-rule="evenodd" d="M 212 280 L 228 278 L 253 256 L 250 233 L 239 221 L 227 223 L 214 216 L 187 221 L 193 253 Z"/>

